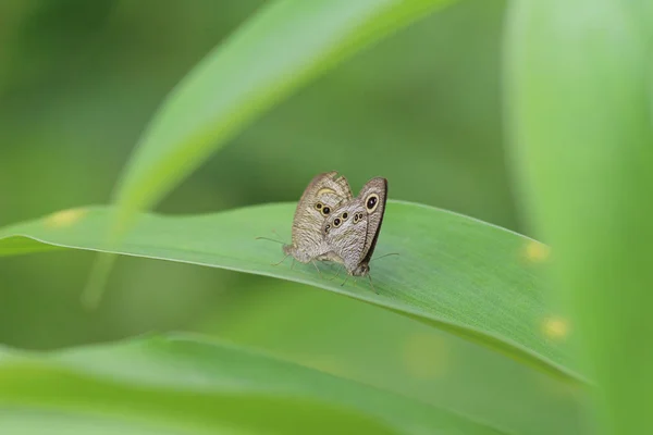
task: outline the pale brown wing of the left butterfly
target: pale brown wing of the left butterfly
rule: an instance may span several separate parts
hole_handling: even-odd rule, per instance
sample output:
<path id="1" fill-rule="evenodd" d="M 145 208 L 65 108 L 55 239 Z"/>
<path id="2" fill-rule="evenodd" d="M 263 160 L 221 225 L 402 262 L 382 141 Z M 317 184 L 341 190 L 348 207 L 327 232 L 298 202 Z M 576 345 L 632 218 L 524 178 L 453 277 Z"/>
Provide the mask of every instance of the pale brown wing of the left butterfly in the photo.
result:
<path id="1" fill-rule="evenodd" d="M 313 177 L 304 190 L 293 219 L 293 244 L 286 253 L 308 262 L 328 251 L 321 229 L 333 210 L 352 200 L 352 189 L 344 176 L 331 171 Z"/>

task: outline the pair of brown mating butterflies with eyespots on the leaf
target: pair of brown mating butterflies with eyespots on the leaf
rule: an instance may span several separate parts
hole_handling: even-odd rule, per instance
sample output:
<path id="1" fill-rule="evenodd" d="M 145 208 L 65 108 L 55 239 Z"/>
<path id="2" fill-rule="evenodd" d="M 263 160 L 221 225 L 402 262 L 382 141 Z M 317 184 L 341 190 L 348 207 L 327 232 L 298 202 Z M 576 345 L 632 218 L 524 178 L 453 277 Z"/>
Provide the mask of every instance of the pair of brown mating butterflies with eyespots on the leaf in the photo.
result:
<path id="1" fill-rule="evenodd" d="M 299 199 L 293 243 L 284 245 L 283 252 L 301 263 L 328 260 L 342 264 L 349 275 L 369 276 L 386 196 L 385 178 L 370 179 L 354 198 L 337 172 L 317 175 Z"/>

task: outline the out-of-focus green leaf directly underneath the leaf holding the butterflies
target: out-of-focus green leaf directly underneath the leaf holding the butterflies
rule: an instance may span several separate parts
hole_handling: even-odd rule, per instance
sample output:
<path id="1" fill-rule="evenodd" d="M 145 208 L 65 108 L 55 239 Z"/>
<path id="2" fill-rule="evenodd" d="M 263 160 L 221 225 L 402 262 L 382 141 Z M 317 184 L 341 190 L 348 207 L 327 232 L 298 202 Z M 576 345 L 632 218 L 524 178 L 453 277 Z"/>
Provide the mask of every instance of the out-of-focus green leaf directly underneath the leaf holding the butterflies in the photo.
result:
<path id="1" fill-rule="evenodd" d="M 226 289 L 229 309 L 190 327 L 455 410 L 510 434 L 586 433 L 582 386 L 331 291 L 307 291 L 283 281 L 247 281 L 246 295 L 242 288 Z"/>

